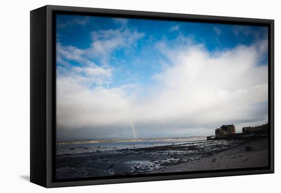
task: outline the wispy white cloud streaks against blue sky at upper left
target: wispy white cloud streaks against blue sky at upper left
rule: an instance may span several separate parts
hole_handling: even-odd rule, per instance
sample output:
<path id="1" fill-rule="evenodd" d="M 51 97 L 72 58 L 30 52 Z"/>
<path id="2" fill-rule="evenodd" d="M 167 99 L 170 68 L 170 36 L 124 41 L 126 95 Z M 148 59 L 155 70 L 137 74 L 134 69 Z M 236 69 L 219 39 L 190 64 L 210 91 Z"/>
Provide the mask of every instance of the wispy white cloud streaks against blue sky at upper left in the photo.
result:
<path id="1" fill-rule="evenodd" d="M 91 45 L 86 49 L 75 46 L 66 46 L 57 43 L 57 62 L 68 65 L 67 60 L 81 64 L 95 65 L 92 59 L 99 59 L 102 65 L 108 65 L 108 60 L 113 51 L 133 46 L 135 42 L 144 37 L 144 33 L 127 28 L 127 20 L 116 18 L 114 21 L 121 24 L 118 29 L 99 30 L 91 32 Z"/>

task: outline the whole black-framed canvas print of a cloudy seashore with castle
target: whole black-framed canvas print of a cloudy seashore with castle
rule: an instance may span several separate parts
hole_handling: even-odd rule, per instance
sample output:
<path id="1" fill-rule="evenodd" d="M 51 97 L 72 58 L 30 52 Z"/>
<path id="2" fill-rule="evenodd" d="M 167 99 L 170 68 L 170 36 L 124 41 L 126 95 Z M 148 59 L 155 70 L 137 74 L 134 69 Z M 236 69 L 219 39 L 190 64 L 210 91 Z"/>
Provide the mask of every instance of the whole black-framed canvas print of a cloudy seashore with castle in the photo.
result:
<path id="1" fill-rule="evenodd" d="M 274 172 L 274 21 L 31 11 L 31 182 Z"/>

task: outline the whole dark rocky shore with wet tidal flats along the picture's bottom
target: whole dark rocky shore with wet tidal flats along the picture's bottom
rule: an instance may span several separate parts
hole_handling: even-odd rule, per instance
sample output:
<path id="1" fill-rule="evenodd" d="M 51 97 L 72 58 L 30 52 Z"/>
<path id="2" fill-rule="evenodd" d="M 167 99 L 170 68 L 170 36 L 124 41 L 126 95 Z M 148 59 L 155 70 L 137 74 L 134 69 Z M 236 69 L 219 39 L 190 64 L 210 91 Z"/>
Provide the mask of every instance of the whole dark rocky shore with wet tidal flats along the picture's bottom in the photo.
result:
<path id="1" fill-rule="evenodd" d="M 267 137 L 171 140 L 57 148 L 57 179 L 223 170 L 268 165 Z"/>

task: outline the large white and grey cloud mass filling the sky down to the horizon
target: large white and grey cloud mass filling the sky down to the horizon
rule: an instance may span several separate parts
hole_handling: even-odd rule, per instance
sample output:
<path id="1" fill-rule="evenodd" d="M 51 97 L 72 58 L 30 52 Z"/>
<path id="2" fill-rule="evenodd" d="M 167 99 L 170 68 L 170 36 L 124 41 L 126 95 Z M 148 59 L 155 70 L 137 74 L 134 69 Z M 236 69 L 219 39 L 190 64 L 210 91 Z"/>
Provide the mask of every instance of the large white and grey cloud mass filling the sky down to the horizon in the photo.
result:
<path id="1" fill-rule="evenodd" d="M 126 29 L 95 32 L 84 51 L 58 44 L 58 52 L 64 52 L 58 60 L 73 57 L 85 64 L 58 68 L 59 140 L 209 135 L 222 124 L 235 124 L 240 131 L 268 121 L 268 67 L 262 65 L 267 40 L 213 52 L 182 36 L 162 40 L 156 49 L 167 62 L 160 73 L 147 77 L 153 85 L 108 87 L 112 68 L 90 62 L 87 53 L 100 50 L 106 61 L 103 49 L 110 53 L 114 47 L 107 45 L 127 46 L 122 38 L 131 35 L 135 39 L 128 44 L 143 36 Z M 111 45 L 112 36 L 121 40 Z"/>

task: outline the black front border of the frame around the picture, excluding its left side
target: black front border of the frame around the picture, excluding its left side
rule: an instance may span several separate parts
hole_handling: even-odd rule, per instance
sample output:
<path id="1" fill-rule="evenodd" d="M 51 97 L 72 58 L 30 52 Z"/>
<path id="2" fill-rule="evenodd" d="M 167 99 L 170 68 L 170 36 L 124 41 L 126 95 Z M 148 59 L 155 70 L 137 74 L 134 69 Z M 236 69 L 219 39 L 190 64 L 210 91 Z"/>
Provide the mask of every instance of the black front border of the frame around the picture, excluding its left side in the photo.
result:
<path id="1" fill-rule="evenodd" d="M 113 183 L 130 183 L 130 182 L 146 182 L 146 181 L 160 181 L 160 180 L 176 180 L 176 179 L 190 179 L 190 178 L 208 178 L 208 177 L 224 177 L 224 176 L 240 176 L 240 175 L 253 175 L 253 174 L 270 174 L 274 173 L 274 20 L 272 19 L 253 19 L 253 18 L 242 18 L 242 17 L 221 17 L 221 16 L 208 16 L 208 15 L 192 15 L 192 14 L 180 14 L 180 13 L 164 13 L 164 12 L 146 12 L 146 11 L 131 11 L 131 10 L 115 10 L 115 9 L 100 9 L 100 8 L 82 8 L 82 7 L 68 7 L 68 6 L 53 6 L 48 5 L 46 7 L 46 73 L 47 73 L 47 86 L 46 89 L 48 93 L 47 104 L 47 131 L 46 131 L 46 146 L 47 146 L 47 158 L 46 158 L 46 186 L 44 187 L 62 187 L 62 186 L 81 186 L 81 185 L 98 185 L 98 184 L 113 184 Z M 53 182 L 53 172 L 52 172 L 52 92 L 54 84 L 51 80 L 52 74 L 52 56 L 53 56 L 53 46 L 52 46 L 52 22 L 53 22 L 53 11 L 74 11 L 74 12 L 95 12 L 95 13 L 113 13 L 121 15 L 145 15 L 147 17 L 170 17 L 170 18 L 191 18 L 191 19 L 201 19 L 209 21 L 230 21 L 230 22 L 251 22 L 251 23 L 263 23 L 270 28 L 270 88 L 271 88 L 271 104 L 270 104 L 270 169 L 266 170 L 252 170 L 252 171 L 238 171 L 238 172 L 217 172 L 217 173 L 201 173 L 201 174 L 182 174 L 182 175 L 168 175 L 168 176 L 151 176 L 151 177 L 136 177 L 136 178 L 122 178 L 122 179 L 105 179 L 105 180 L 85 180 L 85 181 L 72 181 L 72 182 Z M 244 20 L 244 21 L 242 21 Z M 51 100 L 50 100 L 51 99 Z"/>

